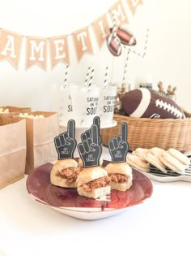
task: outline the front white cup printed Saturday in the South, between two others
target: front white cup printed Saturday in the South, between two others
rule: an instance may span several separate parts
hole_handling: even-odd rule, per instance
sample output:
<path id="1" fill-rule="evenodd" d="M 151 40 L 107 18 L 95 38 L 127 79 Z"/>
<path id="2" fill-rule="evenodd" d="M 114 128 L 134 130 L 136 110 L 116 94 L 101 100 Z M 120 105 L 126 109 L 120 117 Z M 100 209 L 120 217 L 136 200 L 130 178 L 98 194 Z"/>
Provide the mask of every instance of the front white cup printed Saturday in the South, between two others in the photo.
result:
<path id="1" fill-rule="evenodd" d="M 97 115 L 100 87 L 71 85 L 70 93 L 76 126 L 91 127 L 93 119 Z"/>

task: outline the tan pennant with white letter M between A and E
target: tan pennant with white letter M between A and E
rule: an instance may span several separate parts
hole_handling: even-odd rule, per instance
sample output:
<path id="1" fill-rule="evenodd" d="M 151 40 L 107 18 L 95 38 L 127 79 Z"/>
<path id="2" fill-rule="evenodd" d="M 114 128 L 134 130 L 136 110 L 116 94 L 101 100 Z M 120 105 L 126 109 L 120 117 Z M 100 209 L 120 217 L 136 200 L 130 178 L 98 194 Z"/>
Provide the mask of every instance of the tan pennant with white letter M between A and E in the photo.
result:
<path id="1" fill-rule="evenodd" d="M 39 65 L 46 71 L 47 39 L 42 37 L 26 37 L 26 69 Z"/>

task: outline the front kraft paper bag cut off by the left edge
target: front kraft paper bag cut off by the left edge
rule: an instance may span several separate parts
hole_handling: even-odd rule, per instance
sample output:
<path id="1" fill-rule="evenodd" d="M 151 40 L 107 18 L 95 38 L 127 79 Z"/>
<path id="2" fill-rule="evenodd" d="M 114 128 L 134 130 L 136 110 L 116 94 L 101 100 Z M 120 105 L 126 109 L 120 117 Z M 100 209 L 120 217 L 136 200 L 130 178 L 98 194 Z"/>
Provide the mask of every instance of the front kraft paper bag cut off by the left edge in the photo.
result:
<path id="1" fill-rule="evenodd" d="M 0 189 L 23 178 L 26 151 L 25 120 L 12 124 L 0 120 Z"/>

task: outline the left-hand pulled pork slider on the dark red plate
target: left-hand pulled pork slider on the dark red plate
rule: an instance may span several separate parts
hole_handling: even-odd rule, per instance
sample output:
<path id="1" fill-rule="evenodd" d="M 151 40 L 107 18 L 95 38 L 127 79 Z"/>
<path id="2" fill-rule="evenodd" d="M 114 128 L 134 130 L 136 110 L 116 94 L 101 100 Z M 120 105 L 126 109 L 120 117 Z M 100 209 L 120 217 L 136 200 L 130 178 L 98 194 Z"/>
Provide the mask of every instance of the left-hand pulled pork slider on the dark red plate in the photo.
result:
<path id="1" fill-rule="evenodd" d="M 50 182 L 63 188 L 76 188 L 76 179 L 81 168 L 74 159 L 58 160 L 50 172 Z"/>

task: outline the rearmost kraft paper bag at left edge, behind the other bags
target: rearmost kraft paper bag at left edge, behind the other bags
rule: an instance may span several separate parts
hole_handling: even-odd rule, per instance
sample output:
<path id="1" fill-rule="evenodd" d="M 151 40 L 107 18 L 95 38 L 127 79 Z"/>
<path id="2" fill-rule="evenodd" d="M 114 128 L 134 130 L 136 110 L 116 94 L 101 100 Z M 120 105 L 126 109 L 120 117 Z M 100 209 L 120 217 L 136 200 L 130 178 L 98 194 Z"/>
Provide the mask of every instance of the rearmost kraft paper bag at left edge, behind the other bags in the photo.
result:
<path id="1" fill-rule="evenodd" d="M 12 117 L 14 115 L 19 115 L 19 113 L 30 113 L 30 107 L 18 107 L 18 106 L 0 106 L 0 110 L 2 109 L 2 113 L 0 111 L 0 122 L 3 124 L 11 124 Z M 4 112 L 7 111 L 8 112 Z"/>

